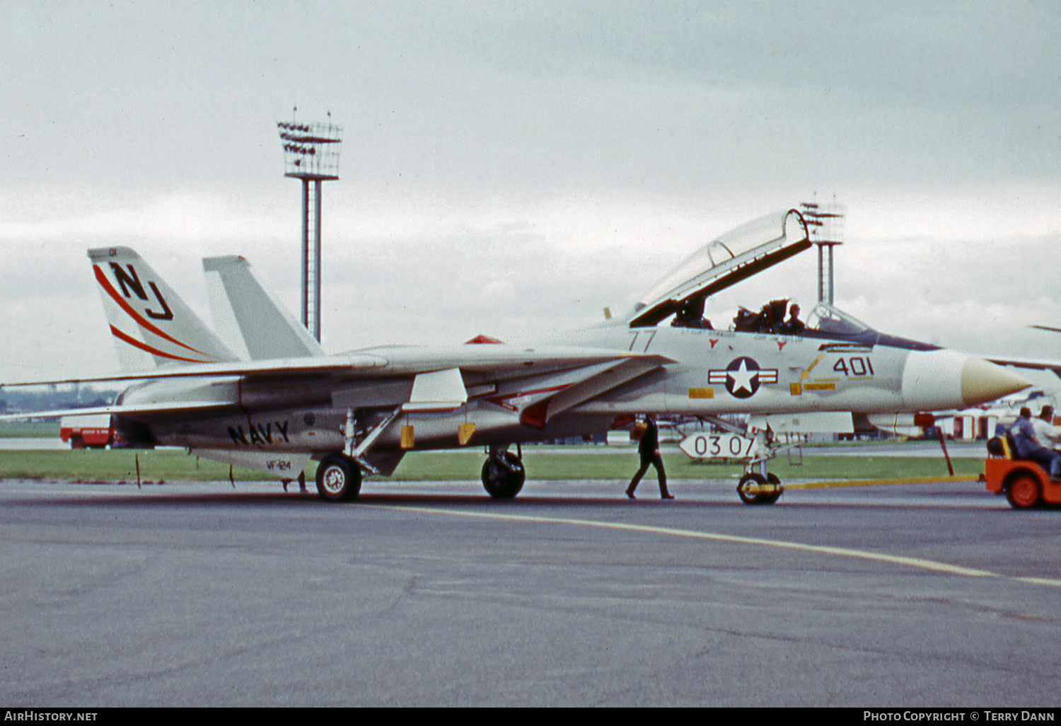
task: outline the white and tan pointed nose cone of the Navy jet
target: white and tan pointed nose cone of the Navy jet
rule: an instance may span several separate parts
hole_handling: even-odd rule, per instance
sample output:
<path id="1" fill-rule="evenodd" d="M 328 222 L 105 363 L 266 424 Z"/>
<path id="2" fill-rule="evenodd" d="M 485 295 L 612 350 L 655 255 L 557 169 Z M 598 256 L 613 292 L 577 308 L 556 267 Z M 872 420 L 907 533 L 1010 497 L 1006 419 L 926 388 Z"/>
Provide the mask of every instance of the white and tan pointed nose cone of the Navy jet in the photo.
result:
<path id="1" fill-rule="evenodd" d="M 1013 371 L 954 350 L 914 350 L 903 367 L 903 403 L 940 411 L 993 401 L 1030 385 Z"/>

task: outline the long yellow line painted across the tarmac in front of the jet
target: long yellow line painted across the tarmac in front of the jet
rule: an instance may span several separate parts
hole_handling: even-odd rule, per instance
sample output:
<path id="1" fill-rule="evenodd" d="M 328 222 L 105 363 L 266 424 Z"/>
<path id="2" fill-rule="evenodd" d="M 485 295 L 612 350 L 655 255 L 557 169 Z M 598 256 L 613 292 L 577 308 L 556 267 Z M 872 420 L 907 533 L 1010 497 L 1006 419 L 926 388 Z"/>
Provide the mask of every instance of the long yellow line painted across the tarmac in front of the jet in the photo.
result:
<path id="1" fill-rule="evenodd" d="M 970 567 L 960 567 L 947 563 L 939 563 L 934 559 L 922 559 L 920 557 L 903 557 L 900 555 L 882 554 L 880 552 L 867 552 L 865 550 L 850 550 L 842 547 L 823 547 L 820 544 L 802 544 L 800 542 L 789 542 L 780 539 L 762 539 L 759 537 L 738 537 L 735 535 L 724 535 L 712 532 L 697 532 L 696 530 L 678 530 L 669 526 L 651 526 L 648 524 L 624 524 L 621 522 L 602 522 L 593 519 L 568 519 L 564 517 L 532 517 L 528 515 L 503 515 L 484 512 L 457 512 L 455 509 L 432 509 L 421 506 L 400 506 L 400 505 L 372 505 L 362 504 L 365 508 L 393 509 L 395 512 L 413 512 L 425 515 L 445 515 L 450 517 L 470 517 L 473 519 L 493 519 L 509 522 L 526 522 L 535 524 L 573 524 L 576 526 L 592 526 L 602 530 L 621 530 L 624 532 L 642 532 L 646 534 L 662 534 L 671 537 L 684 537 L 689 539 L 707 539 L 717 542 L 731 542 L 736 544 L 755 544 L 759 547 L 773 547 L 782 550 L 796 550 L 800 552 L 813 552 L 815 554 L 827 554 L 839 557 L 854 557 L 856 559 L 868 559 L 890 565 L 903 565 L 915 567 L 933 572 L 945 572 L 947 574 L 963 575 L 966 577 L 999 577 L 1002 575 L 987 570 L 977 570 Z"/>

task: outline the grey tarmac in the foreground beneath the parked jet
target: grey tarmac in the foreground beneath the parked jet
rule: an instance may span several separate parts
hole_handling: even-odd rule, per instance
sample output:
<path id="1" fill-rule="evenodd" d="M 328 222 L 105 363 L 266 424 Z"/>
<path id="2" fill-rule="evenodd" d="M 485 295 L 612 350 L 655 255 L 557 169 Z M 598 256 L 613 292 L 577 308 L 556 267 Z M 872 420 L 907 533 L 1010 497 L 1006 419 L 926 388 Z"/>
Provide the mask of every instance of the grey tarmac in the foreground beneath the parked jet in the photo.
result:
<path id="1" fill-rule="evenodd" d="M 1057 704 L 1061 512 L 625 484 L 0 482 L 0 702 Z"/>

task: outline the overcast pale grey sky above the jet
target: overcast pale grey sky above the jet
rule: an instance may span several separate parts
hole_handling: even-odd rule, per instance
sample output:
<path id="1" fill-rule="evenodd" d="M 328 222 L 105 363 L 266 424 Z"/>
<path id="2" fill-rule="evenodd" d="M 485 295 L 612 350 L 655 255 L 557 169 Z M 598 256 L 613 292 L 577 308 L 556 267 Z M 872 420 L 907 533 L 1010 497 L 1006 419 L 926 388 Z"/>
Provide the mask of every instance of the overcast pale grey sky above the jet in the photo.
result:
<path id="1" fill-rule="evenodd" d="M 117 368 L 91 246 L 134 246 L 206 319 L 206 255 L 295 308 L 296 104 L 345 128 L 329 351 L 592 322 L 817 193 L 848 206 L 839 307 L 1061 358 L 1026 327 L 1061 327 L 1056 2 L 0 0 L 0 380 Z M 815 274 L 806 253 L 707 314 L 808 309 Z"/>

